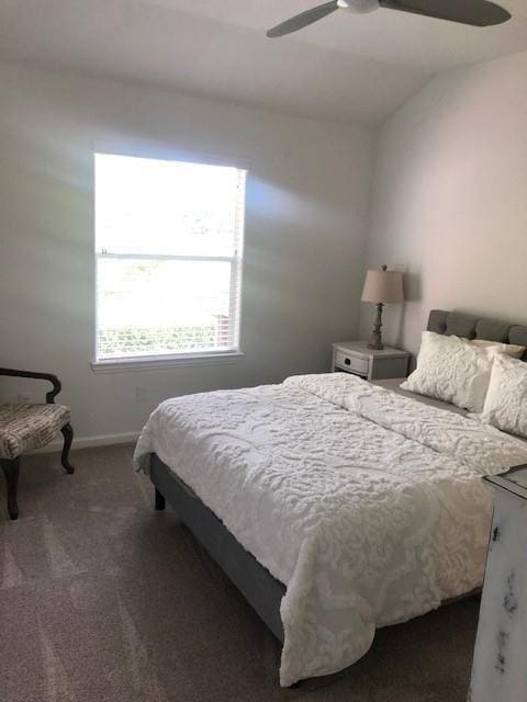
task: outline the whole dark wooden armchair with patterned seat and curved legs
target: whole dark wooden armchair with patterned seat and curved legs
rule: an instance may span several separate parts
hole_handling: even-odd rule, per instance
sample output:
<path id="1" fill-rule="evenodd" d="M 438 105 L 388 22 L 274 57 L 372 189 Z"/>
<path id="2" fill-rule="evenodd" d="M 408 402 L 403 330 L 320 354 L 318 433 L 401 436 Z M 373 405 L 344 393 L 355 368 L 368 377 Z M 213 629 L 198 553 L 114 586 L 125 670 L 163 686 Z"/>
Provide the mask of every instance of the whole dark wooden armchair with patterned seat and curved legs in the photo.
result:
<path id="1" fill-rule="evenodd" d="M 11 519 L 16 519 L 20 456 L 27 451 L 45 446 L 61 432 L 64 437 L 61 464 L 68 473 L 74 473 L 75 468 L 69 463 L 74 430 L 69 423 L 69 407 L 55 405 L 55 397 L 61 389 L 60 381 L 56 375 L 13 369 L 0 369 L 0 375 L 44 380 L 53 385 L 53 389 L 46 394 L 46 404 L 0 405 L 0 463 L 8 488 L 8 512 Z"/>

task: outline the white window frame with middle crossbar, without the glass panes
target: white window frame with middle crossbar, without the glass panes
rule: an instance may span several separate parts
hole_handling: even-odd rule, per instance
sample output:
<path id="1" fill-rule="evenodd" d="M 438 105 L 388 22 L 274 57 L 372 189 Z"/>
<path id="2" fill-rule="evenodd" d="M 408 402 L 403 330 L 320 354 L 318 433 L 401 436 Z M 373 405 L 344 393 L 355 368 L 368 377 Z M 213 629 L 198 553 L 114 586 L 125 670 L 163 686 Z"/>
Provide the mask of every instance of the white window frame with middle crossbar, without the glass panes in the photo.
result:
<path id="1" fill-rule="evenodd" d="M 237 247 L 232 256 L 188 256 L 171 253 L 127 253 L 127 252 L 110 252 L 103 247 L 98 250 L 97 246 L 97 217 L 94 217 L 93 231 L 93 264 L 94 264 L 94 335 L 93 335 L 93 361 L 91 367 L 94 372 L 109 373 L 114 371 L 135 371 L 135 370 L 154 370 L 159 367 L 178 367 L 184 365 L 213 365 L 224 363 L 236 363 L 245 354 L 240 348 L 240 328 L 242 328 L 242 287 L 243 287 L 243 269 L 244 269 L 244 245 L 245 245 L 245 213 L 246 213 L 246 183 L 248 168 L 246 165 L 229 163 L 225 161 L 211 161 L 206 158 L 180 158 L 175 156 L 161 158 L 159 156 L 145 156 L 135 154 L 115 154 L 112 150 L 97 150 L 97 155 L 123 156 L 131 158 L 142 158 L 152 160 L 166 160 L 193 163 L 198 166 L 220 166 L 225 168 L 235 168 L 243 173 L 244 197 L 242 201 L 242 222 L 239 224 Z M 94 200 L 97 197 L 97 185 L 94 185 Z M 96 205 L 96 202 L 94 202 Z M 228 308 L 234 319 L 233 339 L 234 344 L 226 349 L 211 349 L 199 351 L 184 351 L 180 353 L 145 353 L 122 356 L 98 356 L 98 333 L 99 333 L 99 298 L 98 298 L 98 279 L 99 279 L 99 261 L 100 260 L 165 260 L 165 261 L 223 261 L 231 263 L 231 284 Z M 235 314 L 237 310 L 237 314 Z"/>

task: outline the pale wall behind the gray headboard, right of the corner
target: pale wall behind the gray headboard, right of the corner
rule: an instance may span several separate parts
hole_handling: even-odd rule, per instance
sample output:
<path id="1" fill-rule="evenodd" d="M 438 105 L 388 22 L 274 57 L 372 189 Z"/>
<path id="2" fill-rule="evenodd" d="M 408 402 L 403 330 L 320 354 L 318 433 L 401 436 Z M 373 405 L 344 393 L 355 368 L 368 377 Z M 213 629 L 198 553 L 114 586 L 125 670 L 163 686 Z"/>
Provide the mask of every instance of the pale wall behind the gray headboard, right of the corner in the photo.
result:
<path id="1" fill-rule="evenodd" d="M 383 126 L 367 262 L 407 271 L 385 340 L 413 352 L 430 308 L 527 322 L 527 53 L 436 77 Z"/>

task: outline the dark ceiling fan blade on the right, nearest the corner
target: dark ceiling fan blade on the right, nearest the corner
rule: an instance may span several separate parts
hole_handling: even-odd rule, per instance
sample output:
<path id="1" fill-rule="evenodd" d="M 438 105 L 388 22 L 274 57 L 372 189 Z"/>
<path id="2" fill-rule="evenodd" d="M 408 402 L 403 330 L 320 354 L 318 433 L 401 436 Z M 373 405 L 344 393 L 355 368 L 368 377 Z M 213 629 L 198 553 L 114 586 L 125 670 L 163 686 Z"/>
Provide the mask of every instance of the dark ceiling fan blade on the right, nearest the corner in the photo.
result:
<path id="1" fill-rule="evenodd" d="M 504 8 L 487 0 L 379 0 L 381 8 L 423 14 L 472 26 L 501 24 L 511 19 Z"/>

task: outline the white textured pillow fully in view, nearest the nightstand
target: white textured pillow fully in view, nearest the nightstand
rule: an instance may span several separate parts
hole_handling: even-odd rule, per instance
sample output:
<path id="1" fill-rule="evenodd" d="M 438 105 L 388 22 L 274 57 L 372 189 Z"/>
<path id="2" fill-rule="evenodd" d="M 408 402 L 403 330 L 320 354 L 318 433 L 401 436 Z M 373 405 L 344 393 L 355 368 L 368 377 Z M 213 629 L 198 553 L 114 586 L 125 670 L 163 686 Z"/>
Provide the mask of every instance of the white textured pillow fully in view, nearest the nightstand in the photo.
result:
<path id="1" fill-rule="evenodd" d="M 401 387 L 481 412 L 497 355 L 495 347 L 479 348 L 468 339 L 423 331 L 417 367 Z"/>

